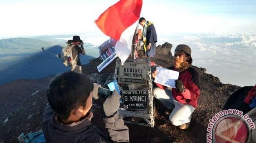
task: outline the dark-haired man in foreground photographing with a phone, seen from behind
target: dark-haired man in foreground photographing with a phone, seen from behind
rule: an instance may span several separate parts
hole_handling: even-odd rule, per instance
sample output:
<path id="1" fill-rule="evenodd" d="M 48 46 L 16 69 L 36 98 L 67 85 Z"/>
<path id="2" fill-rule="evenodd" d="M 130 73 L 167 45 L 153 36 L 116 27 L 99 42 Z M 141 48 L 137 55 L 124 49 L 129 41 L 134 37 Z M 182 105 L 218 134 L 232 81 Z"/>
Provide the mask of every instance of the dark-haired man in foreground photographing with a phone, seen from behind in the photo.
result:
<path id="1" fill-rule="evenodd" d="M 47 143 L 105 143 L 109 141 L 91 123 L 92 98 L 98 99 L 100 85 L 85 75 L 68 71 L 49 83 L 42 129 Z M 113 91 L 103 103 L 103 121 L 113 142 L 129 142 L 129 129 L 117 111 L 120 95 Z"/>

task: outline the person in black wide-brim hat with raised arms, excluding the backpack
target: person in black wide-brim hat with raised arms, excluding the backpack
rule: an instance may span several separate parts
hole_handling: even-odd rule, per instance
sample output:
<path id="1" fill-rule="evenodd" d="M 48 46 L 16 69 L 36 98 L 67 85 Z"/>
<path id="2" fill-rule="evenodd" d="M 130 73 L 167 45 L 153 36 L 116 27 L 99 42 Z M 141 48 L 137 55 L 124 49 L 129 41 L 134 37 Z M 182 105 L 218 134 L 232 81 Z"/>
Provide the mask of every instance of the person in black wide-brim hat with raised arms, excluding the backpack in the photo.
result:
<path id="1" fill-rule="evenodd" d="M 79 36 L 73 36 L 73 39 L 68 40 L 66 43 L 70 44 L 70 46 L 75 45 L 72 48 L 72 54 L 73 54 L 73 57 L 77 57 L 77 59 L 76 59 L 76 65 L 71 66 L 71 71 L 74 71 L 76 73 L 82 73 L 82 64 L 81 64 L 81 61 L 80 61 L 80 57 L 79 57 L 80 54 L 79 53 L 81 53 L 82 55 L 85 55 L 83 41 L 80 39 Z"/>

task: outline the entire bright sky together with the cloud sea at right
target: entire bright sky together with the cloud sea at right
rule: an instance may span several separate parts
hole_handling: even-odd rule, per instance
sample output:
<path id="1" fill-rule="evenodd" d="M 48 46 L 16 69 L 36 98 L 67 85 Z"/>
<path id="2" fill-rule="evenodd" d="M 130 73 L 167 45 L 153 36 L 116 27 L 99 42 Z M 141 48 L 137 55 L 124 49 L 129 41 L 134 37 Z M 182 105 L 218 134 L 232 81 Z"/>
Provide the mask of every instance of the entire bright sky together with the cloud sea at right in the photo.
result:
<path id="1" fill-rule="evenodd" d="M 80 35 L 95 47 L 108 39 L 94 21 L 118 0 L 0 0 L 0 39 Z M 144 0 L 158 43 L 187 44 L 193 64 L 223 83 L 256 84 L 256 0 Z M 74 21 L 74 22 L 73 22 Z M 72 36 L 56 39 L 72 39 Z"/>

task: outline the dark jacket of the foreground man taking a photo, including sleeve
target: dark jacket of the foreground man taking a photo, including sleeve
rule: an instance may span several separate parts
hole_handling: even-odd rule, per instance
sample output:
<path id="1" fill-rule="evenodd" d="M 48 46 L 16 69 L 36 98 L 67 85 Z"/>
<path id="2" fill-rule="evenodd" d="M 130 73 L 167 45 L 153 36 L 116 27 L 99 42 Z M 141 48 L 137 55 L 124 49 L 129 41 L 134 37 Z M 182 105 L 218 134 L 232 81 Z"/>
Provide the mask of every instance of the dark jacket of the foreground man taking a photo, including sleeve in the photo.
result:
<path id="1" fill-rule="evenodd" d="M 104 134 L 91 123 L 90 118 L 76 122 L 76 125 L 63 125 L 58 122 L 49 105 L 45 108 L 42 129 L 47 143 L 106 143 Z M 129 142 L 129 130 L 119 114 L 104 119 L 109 136 L 114 142 Z"/>

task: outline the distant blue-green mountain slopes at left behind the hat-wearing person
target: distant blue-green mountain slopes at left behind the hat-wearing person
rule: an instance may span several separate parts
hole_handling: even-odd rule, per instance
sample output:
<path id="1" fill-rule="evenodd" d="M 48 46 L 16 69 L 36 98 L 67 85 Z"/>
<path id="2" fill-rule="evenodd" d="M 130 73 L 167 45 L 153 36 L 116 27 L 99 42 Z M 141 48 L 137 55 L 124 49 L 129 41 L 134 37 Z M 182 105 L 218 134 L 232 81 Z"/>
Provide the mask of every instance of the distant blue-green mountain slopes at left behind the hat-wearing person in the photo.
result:
<path id="1" fill-rule="evenodd" d="M 47 53 L 60 54 L 65 45 L 65 40 L 0 40 L 0 85 L 17 79 L 38 79 L 69 70 L 60 59 Z M 87 64 L 98 56 L 98 49 L 91 46 L 85 44 L 86 55 L 80 57 L 82 64 Z M 44 47 L 46 52 L 43 52 L 41 47 Z"/>

